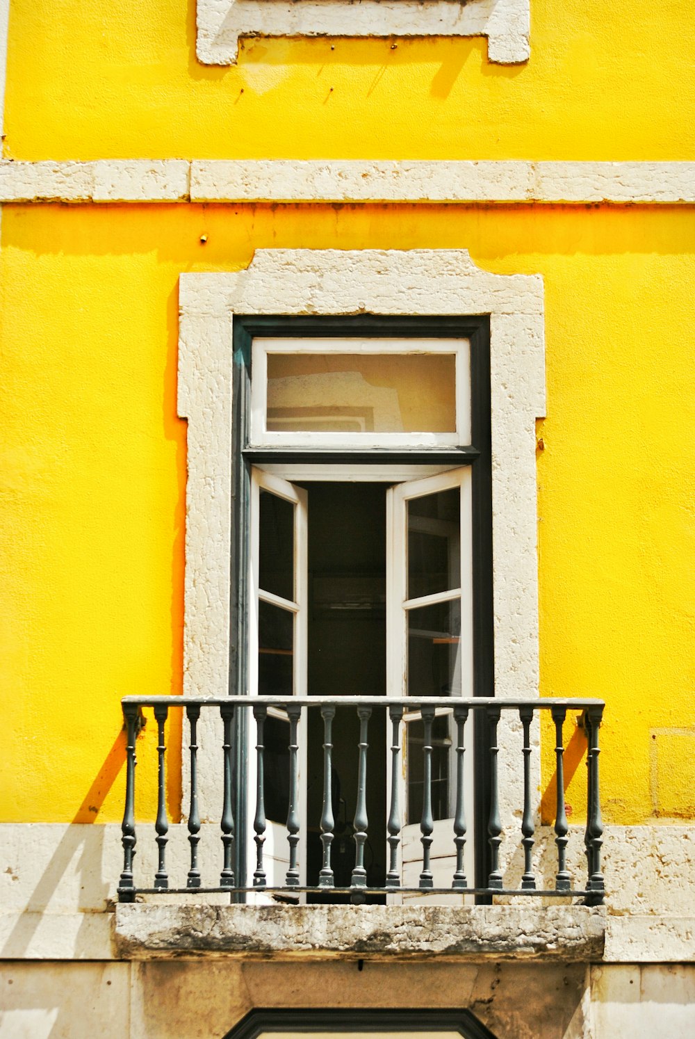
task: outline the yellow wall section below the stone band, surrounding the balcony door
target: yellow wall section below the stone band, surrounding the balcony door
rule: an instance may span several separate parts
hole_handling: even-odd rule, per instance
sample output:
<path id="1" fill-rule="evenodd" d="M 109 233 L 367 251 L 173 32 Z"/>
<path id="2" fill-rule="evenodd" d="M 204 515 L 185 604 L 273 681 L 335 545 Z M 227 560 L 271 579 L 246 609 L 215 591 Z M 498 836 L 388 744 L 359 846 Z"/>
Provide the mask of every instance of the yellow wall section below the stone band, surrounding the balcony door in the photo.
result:
<path id="1" fill-rule="evenodd" d="M 117 820 L 119 697 L 181 688 L 177 281 L 271 245 L 461 246 L 489 270 L 543 275 L 542 692 L 608 700 L 609 821 L 692 816 L 691 209 L 12 206 L 0 297 L 2 818 Z M 138 751 L 149 811 L 154 738 L 151 722 Z M 574 817 L 581 750 L 574 739 L 567 752 Z"/>

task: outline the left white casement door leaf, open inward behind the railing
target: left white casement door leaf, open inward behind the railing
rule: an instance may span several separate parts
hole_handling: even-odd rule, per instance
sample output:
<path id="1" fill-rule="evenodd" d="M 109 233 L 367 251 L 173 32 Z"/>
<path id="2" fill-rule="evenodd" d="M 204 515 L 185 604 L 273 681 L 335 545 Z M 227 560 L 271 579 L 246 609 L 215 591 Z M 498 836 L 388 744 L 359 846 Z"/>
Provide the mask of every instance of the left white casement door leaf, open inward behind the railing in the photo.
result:
<path id="1" fill-rule="evenodd" d="M 249 685 L 261 696 L 306 695 L 306 491 L 277 476 L 252 471 L 249 604 Z M 298 726 L 299 819 L 306 816 L 306 718 Z M 264 858 L 269 886 L 285 884 L 289 860 L 286 822 L 290 719 L 269 709 L 264 726 Z M 256 798 L 256 760 L 249 755 L 249 795 Z M 249 818 L 253 818 L 250 814 Z M 251 846 L 252 848 L 252 846 Z M 298 885 L 306 883 L 299 843 Z M 249 850 L 248 875 L 255 860 Z"/>

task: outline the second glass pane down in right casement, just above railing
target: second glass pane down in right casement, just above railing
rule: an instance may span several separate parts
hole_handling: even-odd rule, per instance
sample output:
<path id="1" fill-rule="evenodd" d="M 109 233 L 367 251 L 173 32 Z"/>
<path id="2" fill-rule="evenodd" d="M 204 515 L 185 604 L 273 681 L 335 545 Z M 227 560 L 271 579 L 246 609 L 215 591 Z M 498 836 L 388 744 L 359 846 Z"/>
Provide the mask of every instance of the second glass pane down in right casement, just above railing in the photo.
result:
<path id="1" fill-rule="evenodd" d="M 459 600 L 408 610 L 408 696 L 461 695 Z"/>

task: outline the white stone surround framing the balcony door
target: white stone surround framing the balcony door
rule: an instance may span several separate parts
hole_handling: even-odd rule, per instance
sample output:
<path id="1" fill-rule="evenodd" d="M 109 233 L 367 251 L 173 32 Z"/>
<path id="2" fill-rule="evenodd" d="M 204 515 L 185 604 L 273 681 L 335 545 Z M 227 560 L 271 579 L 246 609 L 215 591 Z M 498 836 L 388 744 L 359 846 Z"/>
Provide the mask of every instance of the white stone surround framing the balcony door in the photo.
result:
<path id="1" fill-rule="evenodd" d="M 185 695 L 229 693 L 234 315 L 375 314 L 489 315 L 494 693 L 535 698 L 535 422 L 545 412 L 541 276 L 491 274 L 465 249 L 259 249 L 244 270 L 181 274 L 179 302 L 179 415 L 188 420 Z M 206 750 L 198 757 L 201 812 L 211 821 L 220 803 L 213 714 L 202 713 L 198 730 Z M 533 739 L 537 747 L 537 725 Z M 501 807 L 511 821 L 523 804 L 517 717 L 503 713 L 499 742 Z M 536 789 L 537 753 L 532 765 Z"/>

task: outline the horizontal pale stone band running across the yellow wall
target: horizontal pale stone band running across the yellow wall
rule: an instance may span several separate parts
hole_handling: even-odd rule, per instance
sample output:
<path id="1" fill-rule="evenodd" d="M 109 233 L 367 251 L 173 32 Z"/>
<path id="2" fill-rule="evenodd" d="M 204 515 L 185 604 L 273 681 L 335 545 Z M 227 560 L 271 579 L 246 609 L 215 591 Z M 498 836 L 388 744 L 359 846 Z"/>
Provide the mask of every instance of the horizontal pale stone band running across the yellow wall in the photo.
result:
<path id="1" fill-rule="evenodd" d="M 51 202 L 692 205 L 695 162 L 0 161 L 0 203 Z"/>

